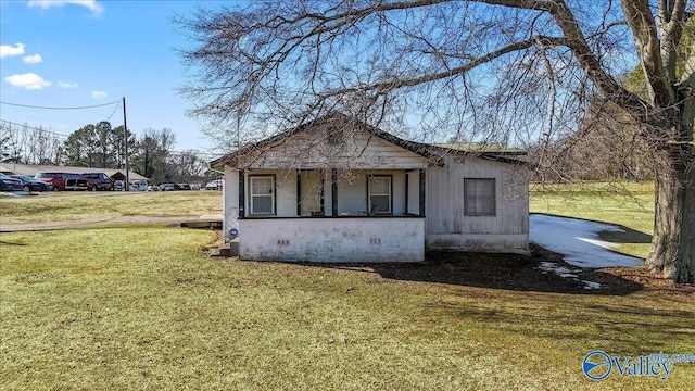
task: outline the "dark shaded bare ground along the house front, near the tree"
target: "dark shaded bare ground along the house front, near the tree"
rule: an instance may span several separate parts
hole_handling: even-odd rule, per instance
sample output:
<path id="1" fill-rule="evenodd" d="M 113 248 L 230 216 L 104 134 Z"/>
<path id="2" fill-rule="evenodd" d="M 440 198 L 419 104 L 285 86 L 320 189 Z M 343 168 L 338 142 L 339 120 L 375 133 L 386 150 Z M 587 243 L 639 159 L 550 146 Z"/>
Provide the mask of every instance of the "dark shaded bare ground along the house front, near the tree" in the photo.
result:
<path id="1" fill-rule="evenodd" d="M 542 262 L 553 262 L 571 270 L 577 278 L 564 278 L 540 268 Z M 621 276 L 593 269 L 579 269 L 563 262 L 560 254 L 531 244 L 531 255 L 486 254 L 466 252 L 428 252 L 424 263 L 323 264 L 302 265 L 344 270 L 377 273 L 383 278 L 403 281 L 446 283 L 464 287 L 503 289 L 528 292 L 570 294 L 627 295 L 643 289 Z M 585 281 L 601 283 L 601 289 L 587 289 Z"/>

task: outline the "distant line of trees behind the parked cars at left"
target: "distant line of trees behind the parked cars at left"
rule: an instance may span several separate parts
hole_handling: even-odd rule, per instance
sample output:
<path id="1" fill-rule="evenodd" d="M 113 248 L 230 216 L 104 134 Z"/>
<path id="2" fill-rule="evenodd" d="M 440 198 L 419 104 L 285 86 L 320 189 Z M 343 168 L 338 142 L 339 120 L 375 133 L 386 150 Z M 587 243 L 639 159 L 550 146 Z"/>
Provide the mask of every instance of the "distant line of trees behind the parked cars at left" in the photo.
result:
<path id="1" fill-rule="evenodd" d="M 195 151 L 172 151 L 176 137 L 168 128 L 149 128 L 138 138 L 124 131 L 123 125 L 114 128 L 102 121 L 65 138 L 40 126 L 0 122 L 0 162 L 124 169 L 125 142 L 130 169 L 154 184 L 194 182 L 215 176 Z"/>

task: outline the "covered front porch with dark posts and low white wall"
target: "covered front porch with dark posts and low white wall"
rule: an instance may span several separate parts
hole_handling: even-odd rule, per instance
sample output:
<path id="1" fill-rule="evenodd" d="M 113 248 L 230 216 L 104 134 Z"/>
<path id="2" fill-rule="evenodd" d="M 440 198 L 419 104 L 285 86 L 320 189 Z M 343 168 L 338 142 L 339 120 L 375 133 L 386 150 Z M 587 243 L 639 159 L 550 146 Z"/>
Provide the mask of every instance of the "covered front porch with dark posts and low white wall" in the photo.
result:
<path id="1" fill-rule="evenodd" d="M 242 260 L 421 262 L 425 168 L 227 166 L 224 231 Z"/>

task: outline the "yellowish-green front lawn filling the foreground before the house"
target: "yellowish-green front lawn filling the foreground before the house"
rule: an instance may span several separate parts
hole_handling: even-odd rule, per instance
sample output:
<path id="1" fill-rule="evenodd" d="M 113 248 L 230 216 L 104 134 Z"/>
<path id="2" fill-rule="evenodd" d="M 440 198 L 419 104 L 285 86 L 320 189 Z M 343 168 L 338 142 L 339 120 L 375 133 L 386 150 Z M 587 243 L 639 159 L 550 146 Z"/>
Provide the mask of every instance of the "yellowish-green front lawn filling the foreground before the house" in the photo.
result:
<path id="1" fill-rule="evenodd" d="M 665 281 L 621 294 L 491 288 L 466 278 L 407 277 L 415 265 L 210 257 L 206 249 L 218 240 L 214 231 L 156 226 L 1 234 L 0 389 L 692 390 L 695 383 L 695 364 L 674 365 L 666 381 L 611 375 L 594 382 L 581 370 L 592 350 L 693 353 L 694 289 Z M 462 258 L 437 267 L 465 274 L 466 265 Z M 500 274 L 514 280 L 520 272 Z"/>

